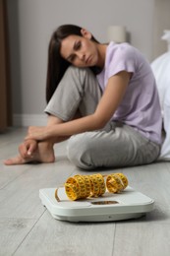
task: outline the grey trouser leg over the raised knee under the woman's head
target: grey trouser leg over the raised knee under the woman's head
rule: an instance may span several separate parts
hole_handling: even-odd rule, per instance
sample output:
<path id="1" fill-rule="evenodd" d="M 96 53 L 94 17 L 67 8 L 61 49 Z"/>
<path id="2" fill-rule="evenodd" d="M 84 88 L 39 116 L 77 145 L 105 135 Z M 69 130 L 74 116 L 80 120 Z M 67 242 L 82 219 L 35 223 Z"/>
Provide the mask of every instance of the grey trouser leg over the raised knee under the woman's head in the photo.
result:
<path id="1" fill-rule="evenodd" d="M 73 119 L 78 111 L 82 116 L 93 113 L 100 97 L 101 91 L 93 73 L 89 69 L 71 66 L 45 111 L 66 122 Z"/>

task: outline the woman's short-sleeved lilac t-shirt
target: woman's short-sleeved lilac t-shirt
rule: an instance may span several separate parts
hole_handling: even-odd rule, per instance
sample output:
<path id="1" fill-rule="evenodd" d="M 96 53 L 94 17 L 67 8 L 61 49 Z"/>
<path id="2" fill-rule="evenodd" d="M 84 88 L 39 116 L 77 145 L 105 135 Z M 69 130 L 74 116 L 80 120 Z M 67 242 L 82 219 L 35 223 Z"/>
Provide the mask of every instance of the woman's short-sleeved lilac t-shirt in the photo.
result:
<path id="1" fill-rule="evenodd" d="M 129 43 L 110 42 L 106 50 L 105 66 L 97 75 L 104 92 L 108 79 L 120 71 L 132 72 L 122 102 L 111 120 L 128 124 L 149 140 L 161 143 L 161 110 L 155 79 L 142 53 Z"/>

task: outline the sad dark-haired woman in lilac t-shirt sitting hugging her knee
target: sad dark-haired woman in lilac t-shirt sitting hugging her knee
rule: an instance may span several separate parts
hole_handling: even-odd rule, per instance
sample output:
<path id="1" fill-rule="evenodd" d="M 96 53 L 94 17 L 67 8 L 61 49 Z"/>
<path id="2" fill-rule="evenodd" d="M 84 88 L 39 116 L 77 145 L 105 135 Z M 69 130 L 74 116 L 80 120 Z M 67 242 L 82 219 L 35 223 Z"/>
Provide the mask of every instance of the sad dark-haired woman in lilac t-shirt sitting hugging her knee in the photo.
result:
<path id="1" fill-rule="evenodd" d="M 128 43 L 99 43 L 65 25 L 52 34 L 46 127 L 29 127 L 20 156 L 5 164 L 54 161 L 68 138 L 68 158 L 85 169 L 150 163 L 159 156 L 161 111 L 149 64 Z"/>

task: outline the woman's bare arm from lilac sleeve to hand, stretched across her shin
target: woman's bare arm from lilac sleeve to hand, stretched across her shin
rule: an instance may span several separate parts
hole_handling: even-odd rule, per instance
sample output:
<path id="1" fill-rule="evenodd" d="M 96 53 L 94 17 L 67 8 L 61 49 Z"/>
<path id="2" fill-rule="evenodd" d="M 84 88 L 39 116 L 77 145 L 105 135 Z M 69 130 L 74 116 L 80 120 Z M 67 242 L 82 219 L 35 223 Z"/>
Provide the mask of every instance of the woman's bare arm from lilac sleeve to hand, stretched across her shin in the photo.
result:
<path id="1" fill-rule="evenodd" d="M 29 127 L 28 137 L 26 139 L 41 141 L 47 138 L 72 136 L 103 128 L 122 101 L 131 75 L 131 73 L 122 71 L 109 79 L 105 92 L 93 114 L 52 126 Z"/>

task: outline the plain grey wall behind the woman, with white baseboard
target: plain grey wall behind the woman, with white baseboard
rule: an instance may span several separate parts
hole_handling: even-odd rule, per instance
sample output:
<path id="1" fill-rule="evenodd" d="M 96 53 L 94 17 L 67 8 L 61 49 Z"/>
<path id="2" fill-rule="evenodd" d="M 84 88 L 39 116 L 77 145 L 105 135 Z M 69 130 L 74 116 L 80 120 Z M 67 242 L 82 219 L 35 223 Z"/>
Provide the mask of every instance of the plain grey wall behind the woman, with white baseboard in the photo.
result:
<path id="1" fill-rule="evenodd" d="M 14 125 L 44 123 L 47 47 L 62 24 L 107 41 L 110 25 L 125 25 L 131 43 L 152 59 L 154 0 L 7 0 Z"/>

